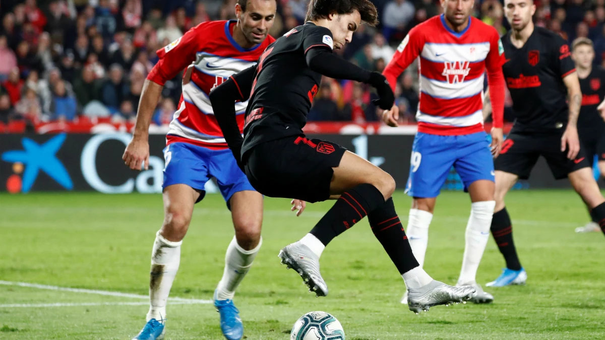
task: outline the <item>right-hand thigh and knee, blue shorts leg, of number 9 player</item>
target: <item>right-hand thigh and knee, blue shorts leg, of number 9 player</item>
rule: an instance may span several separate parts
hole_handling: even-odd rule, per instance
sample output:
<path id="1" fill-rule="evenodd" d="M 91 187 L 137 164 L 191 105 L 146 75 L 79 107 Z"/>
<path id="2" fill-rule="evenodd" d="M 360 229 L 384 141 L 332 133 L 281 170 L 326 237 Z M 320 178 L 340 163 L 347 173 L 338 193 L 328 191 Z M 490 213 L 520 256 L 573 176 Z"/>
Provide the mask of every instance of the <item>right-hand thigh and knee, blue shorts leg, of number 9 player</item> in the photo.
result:
<path id="1" fill-rule="evenodd" d="M 459 136 L 458 159 L 454 169 L 460 175 L 471 201 L 494 200 L 494 159 L 485 132 Z"/>

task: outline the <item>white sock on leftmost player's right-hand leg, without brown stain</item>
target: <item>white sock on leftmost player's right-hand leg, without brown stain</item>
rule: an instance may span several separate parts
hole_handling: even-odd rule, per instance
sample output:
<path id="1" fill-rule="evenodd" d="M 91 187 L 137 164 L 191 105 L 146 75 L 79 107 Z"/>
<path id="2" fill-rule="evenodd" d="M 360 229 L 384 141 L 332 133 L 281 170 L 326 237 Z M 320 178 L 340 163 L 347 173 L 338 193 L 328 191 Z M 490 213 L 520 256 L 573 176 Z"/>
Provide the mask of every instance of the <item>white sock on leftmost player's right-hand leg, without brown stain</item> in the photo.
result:
<path id="1" fill-rule="evenodd" d="M 249 272 L 252 262 L 257 257 L 258 250 L 261 249 L 263 238 L 258 242 L 258 246 L 251 250 L 244 250 L 237 244 L 235 236 L 225 254 L 225 269 L 223 278 L 217 286 L 217 296 L 219 300 L 232 300 L 235 295 L 235 289 L 240 285 L 241 280 Z"/>

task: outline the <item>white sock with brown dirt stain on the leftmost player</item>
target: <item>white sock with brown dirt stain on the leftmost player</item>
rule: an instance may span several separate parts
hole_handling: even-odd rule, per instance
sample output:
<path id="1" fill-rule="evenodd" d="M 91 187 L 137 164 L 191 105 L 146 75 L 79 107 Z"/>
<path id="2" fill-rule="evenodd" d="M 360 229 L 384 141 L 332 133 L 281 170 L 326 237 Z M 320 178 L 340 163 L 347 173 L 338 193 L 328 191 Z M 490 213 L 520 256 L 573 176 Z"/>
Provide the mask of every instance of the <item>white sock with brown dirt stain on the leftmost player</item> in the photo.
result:
<path id="1" fill-rule="evenodd" d="M 147 321 L 156 319 L 164 322 L 166 319 L 166 300 L 177 276 L 178 265 L 181 262 L 181 244 L 183 241 L 166 240 L 160 232 L 155 234 L 153 251 L 151 252 L 151 278 L 149 281 L 149 298 L 151 306 L 147 313 Z"/>

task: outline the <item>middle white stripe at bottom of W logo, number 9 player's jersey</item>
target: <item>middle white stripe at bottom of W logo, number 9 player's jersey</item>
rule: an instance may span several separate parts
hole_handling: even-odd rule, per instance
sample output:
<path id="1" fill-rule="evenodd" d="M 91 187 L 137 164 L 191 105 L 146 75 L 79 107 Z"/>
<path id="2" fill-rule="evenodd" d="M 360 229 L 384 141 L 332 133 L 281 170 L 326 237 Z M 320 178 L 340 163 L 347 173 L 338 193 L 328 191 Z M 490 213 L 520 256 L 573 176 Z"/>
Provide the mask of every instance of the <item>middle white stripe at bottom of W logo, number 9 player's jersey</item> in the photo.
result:
<path id="1" fill-rule="evenodd" d="M 420 75 L 420 91 L 440 99 L 471 97 L 483 92 L 483 76 L 462 83 L 449 83 Z"/>

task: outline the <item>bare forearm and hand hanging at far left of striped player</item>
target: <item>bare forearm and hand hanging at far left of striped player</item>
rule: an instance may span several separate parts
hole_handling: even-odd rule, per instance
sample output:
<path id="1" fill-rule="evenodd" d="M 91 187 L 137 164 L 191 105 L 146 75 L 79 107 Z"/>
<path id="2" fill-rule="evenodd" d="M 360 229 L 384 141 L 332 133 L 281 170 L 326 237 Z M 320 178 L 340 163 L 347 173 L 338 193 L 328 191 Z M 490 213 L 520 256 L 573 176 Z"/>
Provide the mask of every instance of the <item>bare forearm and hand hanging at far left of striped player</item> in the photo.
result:
<path id="1" fill-rule="evenodd" d="M 157 105 L 162 95 L 162 89 L 162 85 L 149 79 L 145 79 L 145 83 L 143 83 L 132 140 L 128 143 L 122 155 L 126 166 L 132 170 L 140 170 L 142 164 L 145 165 L 145 170 L 149 169 L 149 125 L 151 124 L 155 105 Z"/>

